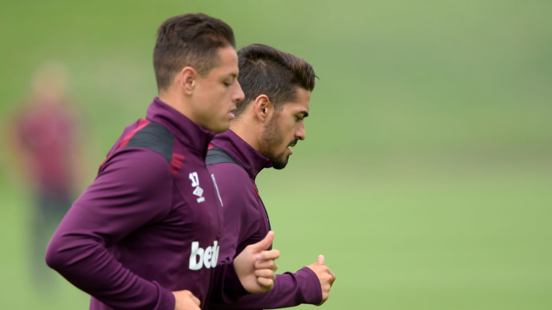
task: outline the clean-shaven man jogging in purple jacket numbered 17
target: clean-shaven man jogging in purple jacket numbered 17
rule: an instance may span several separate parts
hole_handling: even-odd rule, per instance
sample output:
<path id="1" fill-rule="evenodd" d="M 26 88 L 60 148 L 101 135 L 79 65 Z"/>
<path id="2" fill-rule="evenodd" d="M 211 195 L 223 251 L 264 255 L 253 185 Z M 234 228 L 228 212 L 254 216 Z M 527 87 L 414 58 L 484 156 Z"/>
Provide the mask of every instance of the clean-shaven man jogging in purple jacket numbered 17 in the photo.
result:
<path id="1" fill-rule="evenodd" d="M 73 203 L 46 262 L 92 295 L 91 309 L 199 309 L 211 291 L 215 300 L 267 291 L 274 234 L 219 259 L 221 202 L 205 167 L 211 138 L 243 100 L 232 29 L 205 14 L 171 18 L 153 59 L 159 97 Z"/>

